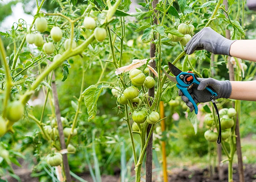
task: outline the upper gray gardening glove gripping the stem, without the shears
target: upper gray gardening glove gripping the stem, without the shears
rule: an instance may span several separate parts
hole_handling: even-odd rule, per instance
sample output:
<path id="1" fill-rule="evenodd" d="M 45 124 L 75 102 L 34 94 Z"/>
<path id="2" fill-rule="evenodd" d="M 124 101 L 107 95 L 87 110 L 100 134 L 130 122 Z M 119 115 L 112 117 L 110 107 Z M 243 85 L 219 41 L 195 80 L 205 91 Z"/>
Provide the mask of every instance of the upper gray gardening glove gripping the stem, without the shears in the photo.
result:
<path id="1" fill-rule="evenodd" d="M 230 46 L 236 40 L 229 40 L 210 27 L 203 28 L 189 40 L 184 51 L 190 55 L 196 50 L 206 50 L 213 54 L 230 56 Z"/>

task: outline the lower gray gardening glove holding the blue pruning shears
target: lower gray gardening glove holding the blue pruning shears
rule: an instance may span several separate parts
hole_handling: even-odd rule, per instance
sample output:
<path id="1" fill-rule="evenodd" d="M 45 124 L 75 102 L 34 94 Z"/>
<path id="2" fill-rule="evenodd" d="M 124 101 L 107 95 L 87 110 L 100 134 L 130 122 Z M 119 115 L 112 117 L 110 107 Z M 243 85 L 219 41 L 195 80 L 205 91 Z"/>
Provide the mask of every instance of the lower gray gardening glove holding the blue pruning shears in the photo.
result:
<path id="1" fill-rule="evenodd" d="M 229 98 L 232 86 L 229 80 L 226 81 L 219 81 L 213 78 L 197 78 L 200 82 L 199 85 L 193 84 L 192 88 L 188 90 L 189 94 L 195 101 L 195 103 L 202 103 L 202 102 L 210 102 L 211 101 L 211 93 L 206 90 L 206 87 L 211 88 L 214 90 L 218 95 L 214 96 L 213 100 L 219 98 Z M 194 110 L 193 104 L 188 101 L 188 98 L 183 95 L 182 91 L 178 91 L 179 96 L 181 99 L 187 104 L 189 107 L 190 112 Z"/>

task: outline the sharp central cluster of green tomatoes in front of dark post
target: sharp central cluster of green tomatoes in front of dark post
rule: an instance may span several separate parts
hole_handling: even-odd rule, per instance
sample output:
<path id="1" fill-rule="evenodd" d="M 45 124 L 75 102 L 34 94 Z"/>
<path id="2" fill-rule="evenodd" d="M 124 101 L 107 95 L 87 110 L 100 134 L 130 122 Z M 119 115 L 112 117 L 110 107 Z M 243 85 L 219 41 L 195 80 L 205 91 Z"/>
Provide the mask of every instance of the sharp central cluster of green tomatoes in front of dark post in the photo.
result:
<path id="1" fill-rule="evenodd" d="M 148 70 L 144 70 L 146 74 Z M 144 93 L 142 90 L 139 90 L 138 87 L 153 88 L 155 86 L 155 80 L 151 76 L 145 76 L 143 71 L 139 69 L 132 69 L 129 71 L 129 78 L 131 80 L 132 86 L 125 88 L 123 93 L 118 92 L 117 90 L 112 89 L 112 94 L 117 96 L 117 102 L 119 104 L 128 104 L 129 101 L 135 106 L 135 110 L 132 113 L 132 124 L 133 131 L 139 131 L 138 124 L 143 124 L 145 121 L 149 124 L 155 124 L 159 121 L 160 116 L 158 112 L 150 112 L 146 105 L 146 96 L 143 96 Z M 143 98 L 143 99 L 140 99 Z M 144 104 L 142 104 L 144 102 Z"/>

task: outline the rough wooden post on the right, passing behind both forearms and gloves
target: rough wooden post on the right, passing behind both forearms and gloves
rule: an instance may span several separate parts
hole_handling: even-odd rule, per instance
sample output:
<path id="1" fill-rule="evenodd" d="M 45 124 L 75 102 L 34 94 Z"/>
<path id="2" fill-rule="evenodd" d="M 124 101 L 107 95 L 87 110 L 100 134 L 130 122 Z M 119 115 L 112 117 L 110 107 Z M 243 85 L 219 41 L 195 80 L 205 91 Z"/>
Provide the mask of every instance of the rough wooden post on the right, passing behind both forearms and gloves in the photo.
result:
<path id="1" fill-rule="evenodd" d="M 223 4 L 225 5 L 225 9 L 229 8 L 229 5 L 227 3 L 227 0 L 223 0 Z M 230 39 L 230 31 L 226 29 L 226 38 Z M 234 81 L 235 76 L 234 76 L 234 67 L 233 64 L 229 61 L 230 57 L 228 57 L 228 65 L 229 65 L 229 80 Z M 233 103 L 234 107 L 234 103 Z M 240 138 L 240 131 L 239 131 L 239 117 L 237 113 L 237 120 L 236 120 L 236 148 L 237 148 L 237 159 L 238 159 L 238 173 L 239 173 L 239 181 L 240 182 L 245 182 L 244 181 L 244 169 L 243 169 L 243 161 L 242 161 L 242 151 L 241 151 L 241 138 Z"/>

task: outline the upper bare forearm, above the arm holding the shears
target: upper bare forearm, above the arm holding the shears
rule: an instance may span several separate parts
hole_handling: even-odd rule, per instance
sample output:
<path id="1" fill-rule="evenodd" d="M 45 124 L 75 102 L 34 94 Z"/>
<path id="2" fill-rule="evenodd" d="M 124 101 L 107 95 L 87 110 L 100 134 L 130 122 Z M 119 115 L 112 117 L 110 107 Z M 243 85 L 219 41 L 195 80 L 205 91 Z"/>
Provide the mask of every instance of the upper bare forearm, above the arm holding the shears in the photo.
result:
<path id="1" fill-rule="evenodd" d="M 230 47 L 230 55 L 256 62 L 256 40 L 237 40 Z"/>

